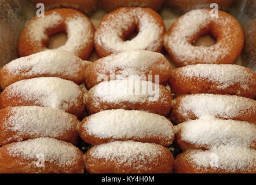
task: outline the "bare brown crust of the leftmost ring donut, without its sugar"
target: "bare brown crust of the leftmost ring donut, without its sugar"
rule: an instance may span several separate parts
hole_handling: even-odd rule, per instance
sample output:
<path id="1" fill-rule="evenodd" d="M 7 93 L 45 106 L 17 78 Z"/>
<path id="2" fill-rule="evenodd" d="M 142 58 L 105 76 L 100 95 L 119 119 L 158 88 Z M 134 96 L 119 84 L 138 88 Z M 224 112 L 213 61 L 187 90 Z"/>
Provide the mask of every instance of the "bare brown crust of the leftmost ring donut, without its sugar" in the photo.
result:
<path id="1" fill-rule="evenodd" d="M 47 50 L 47 44 L 49 42 L 49 36 L 57 34 L 58 32 L 67 32 L 67 25 L 65 23 L 68 18 L 72 18 L 74 16 L 79 16 L 81 18 L 85 18 L 87 23 L 89 24 L 89 30 L 92 35 L 89 35 L 87 38 L 87 43 L 83 43 L 83 47 L 75 48 L 75 54 L 80 57 L 82 60 L 86 60 L 93 50 L 93 35 L 95 32 L 94 25 L 92 21 L 85 14 L 79 12 L 78 10 L 74 9 L 67 9 L 67 8 L 60 8 L 60 9 L 53 9 L 48 10 L 45 12 L 45 17 L 48 15 L 51 16 L 53 14 L 58 14 L 61 17 L 61 21 L 58 22 L 57 25 L 54 25 L 52 28 L 46 28 L 47 38 L 40 40 L 40 42 L 35 42 L 31 39 L 30 29 L 36 21 L 39 21 L 42 17 L 33 17 L 26 25 L 23 31 L 20 34 L 19 42 L 18 42 L 18 50 L 19 55 L 21 57 L 29 56 L 34 53 L 38 53 L 39 51 Z M 88 31 L 89 32 L 89 31 Z M 68 33 L 67 33 L 68 35 Z M 74 42 L 78 42 L 78 40 L 74 40 Z"/>

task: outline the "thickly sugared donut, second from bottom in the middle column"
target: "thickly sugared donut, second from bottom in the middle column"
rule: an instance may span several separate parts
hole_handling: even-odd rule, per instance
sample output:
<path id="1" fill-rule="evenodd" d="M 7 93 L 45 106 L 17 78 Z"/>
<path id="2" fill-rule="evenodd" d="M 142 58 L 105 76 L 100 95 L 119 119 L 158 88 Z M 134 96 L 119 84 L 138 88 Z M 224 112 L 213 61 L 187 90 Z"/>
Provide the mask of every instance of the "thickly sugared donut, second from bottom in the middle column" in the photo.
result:
<path id="1" fill-rule="evenodd" d="M 134 140 L 169 146 L 174 127 L 166 117 L 138 110 L 104 110 L 83 119 L 79 135 L 92 145 Z"/>

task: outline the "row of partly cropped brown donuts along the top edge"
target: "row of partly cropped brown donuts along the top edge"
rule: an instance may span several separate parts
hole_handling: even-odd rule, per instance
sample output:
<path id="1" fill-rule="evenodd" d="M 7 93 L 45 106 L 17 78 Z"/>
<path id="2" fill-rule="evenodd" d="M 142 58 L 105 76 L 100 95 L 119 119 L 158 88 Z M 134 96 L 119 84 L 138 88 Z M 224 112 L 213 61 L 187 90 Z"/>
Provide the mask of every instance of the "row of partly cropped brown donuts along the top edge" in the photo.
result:
<path id="1" fill-rule="evenodd" d="M 177 1 L 177 0 L 32 0 L 32 2 L 43 3 L 46 10 L 53 8 L 72 8 L 78 9 L 83 13 L 94 12 L 102 6 L 107 11 L 112 11 L 120 7 L 129 7 L 129 6 L 141 6 L 151 8 L 153 10 L 159 10 L 163 3 L 166 2 L 168 5 L 174 8 L 181 9 L 182 11 L 189 11 L 197 8 L 210 8 L 211 3 L 217 3 L 220 9 L 228 9 L 232 5 L 233 0 L 196 0 L 191 3 L 188 0 Z"/>

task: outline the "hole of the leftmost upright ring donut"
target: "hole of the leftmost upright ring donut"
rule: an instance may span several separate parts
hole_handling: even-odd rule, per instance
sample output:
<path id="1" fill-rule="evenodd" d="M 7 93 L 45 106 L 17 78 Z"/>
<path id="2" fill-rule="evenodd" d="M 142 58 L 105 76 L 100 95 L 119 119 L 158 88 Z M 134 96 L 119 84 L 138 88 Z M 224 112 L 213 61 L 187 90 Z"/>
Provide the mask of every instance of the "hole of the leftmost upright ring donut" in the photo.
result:
<path id="1" fill-rule="evenodd" d="M 65 45 L 67 39 L 68 39 L 67 33 L 58 32 L 57 34 L 54 34 L 49 37 L 49 42 L 48 42 L 47 48 L 48 49 L 56 49 L 60 46 L 63 46 L 63 45 Z"/>

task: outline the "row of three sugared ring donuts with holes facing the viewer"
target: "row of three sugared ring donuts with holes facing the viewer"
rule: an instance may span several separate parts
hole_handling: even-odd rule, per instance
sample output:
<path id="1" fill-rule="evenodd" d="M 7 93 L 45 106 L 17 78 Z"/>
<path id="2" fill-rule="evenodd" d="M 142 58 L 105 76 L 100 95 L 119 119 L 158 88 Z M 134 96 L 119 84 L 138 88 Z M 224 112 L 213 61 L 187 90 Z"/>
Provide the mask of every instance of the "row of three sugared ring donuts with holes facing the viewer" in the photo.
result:
<path id="1" fill-rule="evenodd" d="M 129 40 L 136 30 L 137 36 Z M 162 17 L 149 8 L 116 9 L 104 16 L 96 31 L 83 13 L 63 8 L 49 10 L 45 17 L 35 16 L 25 25 L 18 44 L 20 56 L 47 50 L 49 37 L 58 32 L 66 32 L 68 39 L 57 50 L 71 51 L 82 60 L 90 56 L 93 46 L 99 57 L 127 50 L 162 52 L 164 46 L 178 66 L 233 64 L 244 46 L 242 27 L 221 10 L 217 17 L 209 9 L 192 10 L 178 18 L 166 33 Z M 217 38 L 215 45 L 193 46 L 207 33 Z"/>

